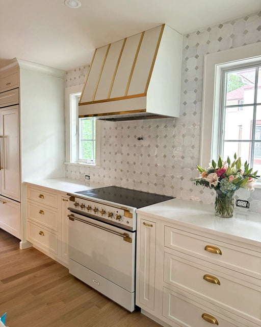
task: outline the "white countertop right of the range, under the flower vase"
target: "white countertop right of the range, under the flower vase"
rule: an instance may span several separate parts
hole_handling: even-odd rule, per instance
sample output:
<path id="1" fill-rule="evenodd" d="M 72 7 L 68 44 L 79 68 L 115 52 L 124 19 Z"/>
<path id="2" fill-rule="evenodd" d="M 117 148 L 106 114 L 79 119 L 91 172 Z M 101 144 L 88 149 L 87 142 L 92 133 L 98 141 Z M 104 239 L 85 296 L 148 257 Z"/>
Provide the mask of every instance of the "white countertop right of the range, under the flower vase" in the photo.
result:
<path id="1" fill-rule="evenodd" d="M 214 205 L 173 199 L 137 210 L 137 214 L 181 226 L 214 233 L 240 242 L 261 246 L 261 215 L 234 211 L 232 218 L 215 216 Z"/>

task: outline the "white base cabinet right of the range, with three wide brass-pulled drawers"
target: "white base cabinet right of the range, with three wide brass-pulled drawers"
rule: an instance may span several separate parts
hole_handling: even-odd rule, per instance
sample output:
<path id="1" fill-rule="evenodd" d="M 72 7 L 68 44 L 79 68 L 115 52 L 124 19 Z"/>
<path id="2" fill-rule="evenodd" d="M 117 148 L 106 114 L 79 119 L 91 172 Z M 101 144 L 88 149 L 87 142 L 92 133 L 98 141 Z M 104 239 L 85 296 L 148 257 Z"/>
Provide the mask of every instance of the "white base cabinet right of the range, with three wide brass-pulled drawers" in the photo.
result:
<path id="1" fill-rule="evenodd" d="M 261 326 L 261 247 L 142 214 L 137 226 L 144 314 L 163 326 Z"/>

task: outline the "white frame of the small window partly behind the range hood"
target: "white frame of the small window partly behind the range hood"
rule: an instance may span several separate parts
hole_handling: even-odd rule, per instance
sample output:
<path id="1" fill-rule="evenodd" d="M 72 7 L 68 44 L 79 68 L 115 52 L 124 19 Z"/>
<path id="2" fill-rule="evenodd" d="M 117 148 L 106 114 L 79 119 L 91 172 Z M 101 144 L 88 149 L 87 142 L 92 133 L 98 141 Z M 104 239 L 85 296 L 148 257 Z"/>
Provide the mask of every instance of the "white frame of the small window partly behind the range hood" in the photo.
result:
<path id="1" fill-rule="evenodd" d="M 77 98 L 81 94 L 84 85 L 75 85 L 65 88 L 65 138 L 66 138 L 66 161 L 65 165 L 99 167 L 100 163 L 100 122 L 96 120 L 95 134 L 95 163 L 88 160 L 79 160 L 78 144 L 78 105 Z"/>

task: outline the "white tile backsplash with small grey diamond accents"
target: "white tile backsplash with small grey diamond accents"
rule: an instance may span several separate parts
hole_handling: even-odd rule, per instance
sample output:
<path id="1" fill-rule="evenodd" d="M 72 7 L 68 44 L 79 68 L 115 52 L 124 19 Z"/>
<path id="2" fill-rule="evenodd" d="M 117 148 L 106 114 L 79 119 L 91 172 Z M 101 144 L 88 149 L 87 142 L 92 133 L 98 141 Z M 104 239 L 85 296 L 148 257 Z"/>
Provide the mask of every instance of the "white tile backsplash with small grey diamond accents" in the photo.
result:
<path id="1" fill-rule="evenodd" d="M 88 174 L 94 182 L 213 203 L 215 192 L 192 181 L 199 175 L 204 55 L 260 41 L 261 12 L 184 35 L 179 118 L 102 121 L 100 166 L 67 165 L 66 177 L 84 180 Z M 67 72 L 66 87 L 83 84 L 87 69 Z M 261 213 L 261 189 L 241 189 L 237 197 Z"/>

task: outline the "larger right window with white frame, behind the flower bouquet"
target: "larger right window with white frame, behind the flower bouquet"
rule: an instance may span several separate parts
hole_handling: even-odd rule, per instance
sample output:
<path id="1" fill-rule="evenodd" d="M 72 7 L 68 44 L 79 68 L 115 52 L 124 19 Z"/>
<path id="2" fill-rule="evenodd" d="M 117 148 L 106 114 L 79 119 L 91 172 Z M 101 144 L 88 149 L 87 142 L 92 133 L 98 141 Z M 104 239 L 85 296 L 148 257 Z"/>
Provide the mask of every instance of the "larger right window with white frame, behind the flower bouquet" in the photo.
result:
<path id="1" fill-rule="evenodd" d="M 225 157 L 238 152 L 243 159 L 252 160 L 254 170 L 261 169 L 258 158 L 261 147 L 260 54 L 261 44 L 254 43 L 205 55 L 200 143 L 202 167 L 207 167 L 210 159 L 219 154 Z M 246 114 L 248 126 L 243 120 Z"/>

